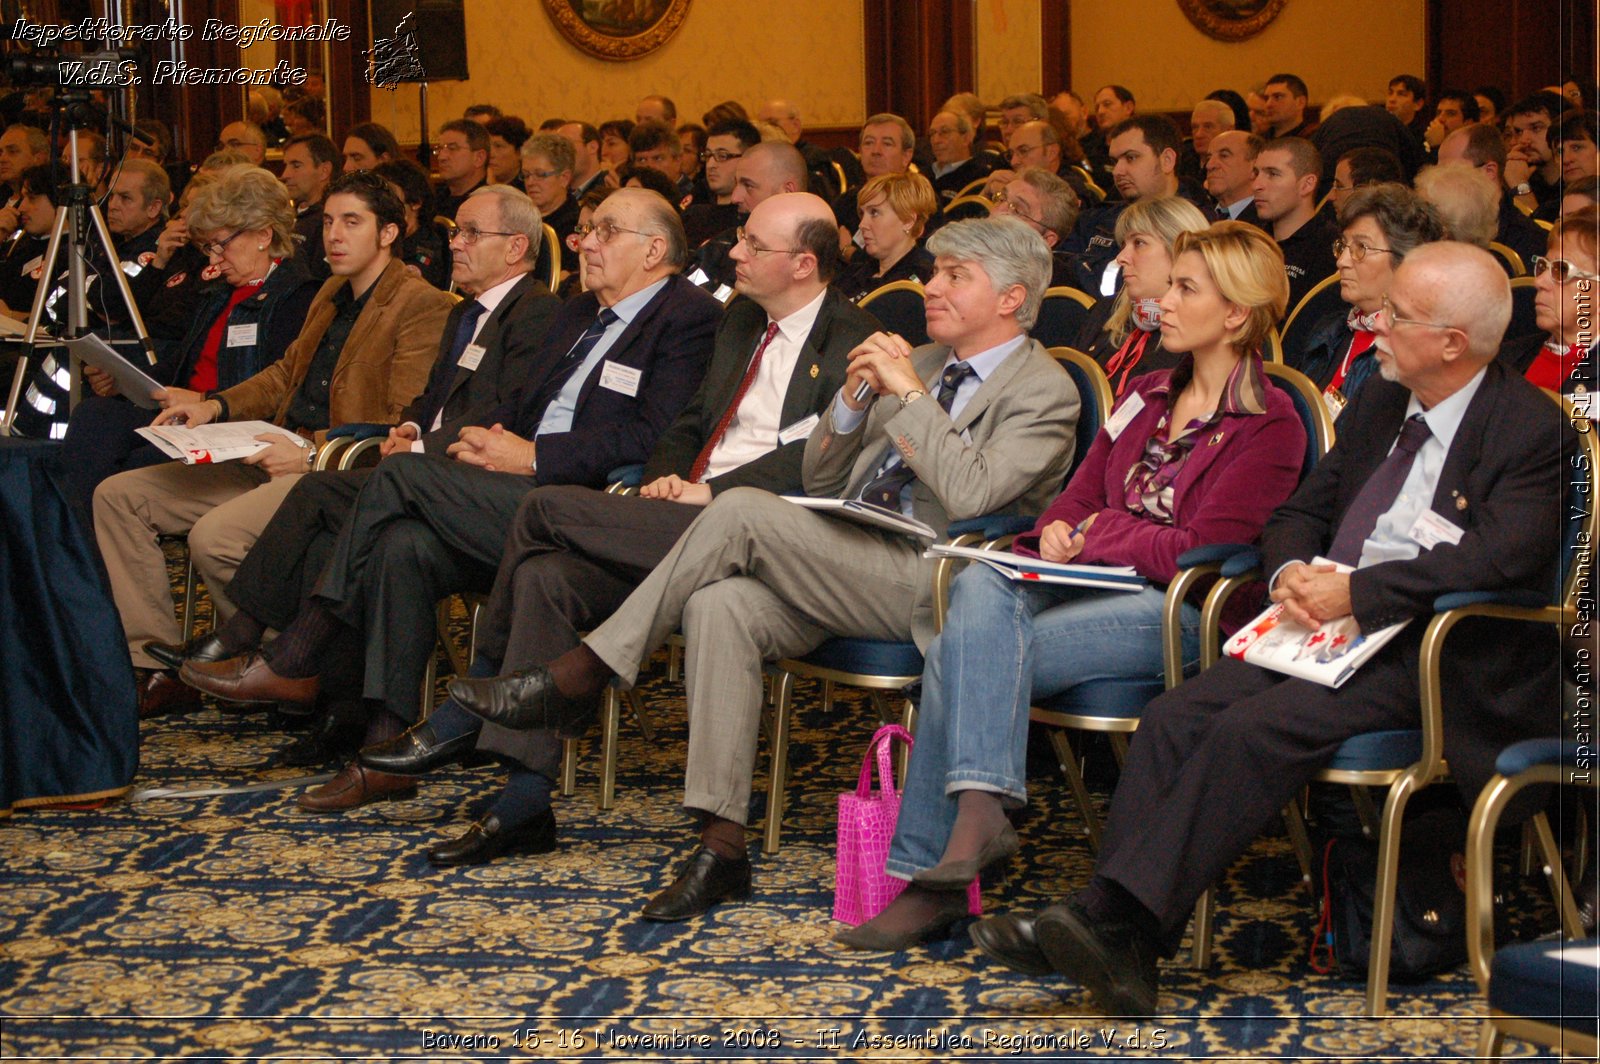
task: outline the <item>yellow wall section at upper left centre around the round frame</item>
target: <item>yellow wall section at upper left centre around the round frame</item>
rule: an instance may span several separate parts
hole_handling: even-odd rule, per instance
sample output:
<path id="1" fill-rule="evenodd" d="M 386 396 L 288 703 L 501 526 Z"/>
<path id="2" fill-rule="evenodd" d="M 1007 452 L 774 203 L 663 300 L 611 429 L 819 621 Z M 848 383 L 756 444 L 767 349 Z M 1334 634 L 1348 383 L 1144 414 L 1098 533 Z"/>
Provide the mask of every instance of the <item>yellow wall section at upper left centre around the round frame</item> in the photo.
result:
<path id="1" fill-rule="evenodd" d="M 629 62 L 595 59 L 566 42 L 539 0 L 474 0 L 467 11 L 470 82 L 429 86 L 429 120 L 459 118 L 467 104 L 494 102 L 528 125 L 549 117 L 632 118 L 648 93 L 670 96 L 678 120 L 738 99 L 752 112 L 784 96 L 806 125 L 866 118 L 861 0 L 693 0 L 678 32 Z M 373 120 L 403 142 L 419 134 L 418 90 L 373 90 Z"/>

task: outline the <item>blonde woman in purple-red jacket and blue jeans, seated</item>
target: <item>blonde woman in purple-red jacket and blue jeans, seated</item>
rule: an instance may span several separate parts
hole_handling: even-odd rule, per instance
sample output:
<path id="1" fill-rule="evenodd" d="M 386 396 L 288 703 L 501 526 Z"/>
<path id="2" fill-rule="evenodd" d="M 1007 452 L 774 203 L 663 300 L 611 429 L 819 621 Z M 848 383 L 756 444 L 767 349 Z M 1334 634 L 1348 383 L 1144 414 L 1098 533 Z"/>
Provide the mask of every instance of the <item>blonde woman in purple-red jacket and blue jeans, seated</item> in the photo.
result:
<path id="1" fill-rule="evenodd" d="M 1067 490 L 1014 546 L 1046 562 L 1131 565 L 1149 587 L 1022 584 L 987 565 L 955 579 L 928 646 L 890 846 L 890 875 L 910 885 L 840 942 L 896 950 L 946 934 L 966 914 L 971 878 L 1018 850 L 1006 810 L 1027 797 L 1029 706 L 1091 680 L 1160 675 L 1178 555 L 1254 541 L 1294 490 L 1306 430 L 1259 355 L 1286 301 L 1283 256 L 1254 226 L 1179 235 L 1160 328 L 1184 358 L 1133 382 Z M 1186 661 L 1198 656 L 1197 621 L 1186 605 Z"/>

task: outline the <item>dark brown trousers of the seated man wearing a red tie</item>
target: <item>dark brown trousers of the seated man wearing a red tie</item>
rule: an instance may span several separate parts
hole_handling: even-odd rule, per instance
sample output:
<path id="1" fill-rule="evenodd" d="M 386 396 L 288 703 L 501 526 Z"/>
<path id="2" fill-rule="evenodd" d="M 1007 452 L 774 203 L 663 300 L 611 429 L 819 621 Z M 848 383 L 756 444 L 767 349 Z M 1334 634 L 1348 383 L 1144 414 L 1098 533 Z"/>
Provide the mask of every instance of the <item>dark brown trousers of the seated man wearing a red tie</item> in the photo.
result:
<path id="1" fill-rule="evenodd" d="M 704 510 L 698 506 L 606 494 L 594 488 L 539 488 L 517 510 L 485 621 L 478 658 L 502 672 L 544 664 L 634 592 Z M 485 725 L 480 749 L 555 774 L 554 731 Z"/>

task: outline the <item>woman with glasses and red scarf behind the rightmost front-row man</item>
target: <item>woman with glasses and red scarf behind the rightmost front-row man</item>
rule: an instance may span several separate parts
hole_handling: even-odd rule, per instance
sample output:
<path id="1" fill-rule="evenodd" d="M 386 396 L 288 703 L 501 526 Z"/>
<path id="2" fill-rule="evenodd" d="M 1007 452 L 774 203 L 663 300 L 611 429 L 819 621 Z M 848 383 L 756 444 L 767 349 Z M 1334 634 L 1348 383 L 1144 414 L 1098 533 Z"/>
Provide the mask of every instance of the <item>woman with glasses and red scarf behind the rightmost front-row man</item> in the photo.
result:
<path id="1" fill-rule="evenodd" d="M 1328 314 L 1304 342 L 1283 352 L 1283 362 L 1322 389 L 1334 418 L 1378 371 L 1373 323 L 1395 269 L 1419 245 L 1443 240 L 1445 222 L 1432 203 L 1390 181 L 1352 192 L 1339 208 L 1339 230 L 1333 254 L 1347 307 Z"/>

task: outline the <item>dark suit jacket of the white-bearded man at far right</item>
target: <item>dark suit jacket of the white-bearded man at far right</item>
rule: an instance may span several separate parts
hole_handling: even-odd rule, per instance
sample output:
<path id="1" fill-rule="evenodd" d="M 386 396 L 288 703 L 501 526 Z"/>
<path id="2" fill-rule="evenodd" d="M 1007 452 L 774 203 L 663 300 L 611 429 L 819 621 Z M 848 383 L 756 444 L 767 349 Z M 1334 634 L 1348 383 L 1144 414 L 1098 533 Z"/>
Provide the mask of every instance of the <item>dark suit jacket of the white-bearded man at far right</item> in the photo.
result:
<path id="1" fill-rule="evenodd" d="M 1346 510 L 1389 454 L 1411 394 L 1368 381 L 1339 418 L 1339 437 L 1261 536 L 1264 571 L 1325 555 Z M 1562 542 L 1563 454 L 1576 448 L 1560 410 L 1502 362 L 1491 362 L 1445 456 L 1432 510 L 1462 530 L 1454 546 L 1382 562 L 1350 578 L 1363 630 L 1413 619 L 1381 654 L 1411 654 L 1434 598 L 1456 590 L 1554 594 Z M 1445 758 L 1467 797 L 1518 739 L 1558 725 L 1557 646 L 1541 626 L 1467 621 L 1445 646 Z"/>

